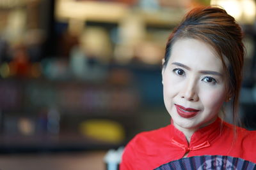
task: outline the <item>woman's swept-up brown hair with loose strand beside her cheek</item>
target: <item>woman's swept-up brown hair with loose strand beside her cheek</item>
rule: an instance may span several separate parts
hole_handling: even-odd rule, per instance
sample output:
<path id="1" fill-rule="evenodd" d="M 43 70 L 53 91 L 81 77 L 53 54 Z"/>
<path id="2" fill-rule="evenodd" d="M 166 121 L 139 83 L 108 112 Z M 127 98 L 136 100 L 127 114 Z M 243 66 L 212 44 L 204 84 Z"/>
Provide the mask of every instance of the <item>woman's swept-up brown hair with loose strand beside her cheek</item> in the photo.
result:
<path id="1" fill-rule="evenodd" d="M 193 38 L 211 45 L 220 57 L 226 76 L 228 96 L 231 99 L 233 123 L 239 123 L 238 104 L 242 81 L 244 45 L 241 27 L 227 12 L 217 7 L 198 7 L 189 11 L 170 34 L 164 56 L 166 67 L 172 45 L 180 38 Z M 229 63 L 225 63 L 225 58 Z"/>

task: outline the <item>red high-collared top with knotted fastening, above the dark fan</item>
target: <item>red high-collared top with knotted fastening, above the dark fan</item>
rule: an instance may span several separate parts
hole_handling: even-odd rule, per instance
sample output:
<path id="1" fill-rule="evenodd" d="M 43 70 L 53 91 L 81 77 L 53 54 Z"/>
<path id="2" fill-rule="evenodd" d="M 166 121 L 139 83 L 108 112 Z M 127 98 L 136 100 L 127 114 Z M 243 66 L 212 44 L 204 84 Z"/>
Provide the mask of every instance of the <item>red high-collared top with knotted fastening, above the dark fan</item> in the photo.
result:
<path id="1" fill-rule="evenodd" d="M 256 163 L 256 131 L 247 131 L 218 118 L 191 136 L 188 144 L 182 132 L 172 124 L 141 132 L 125 147 L 120 169 L 154 169 L 172 160 L 198 155 L 228 155 Z"/>

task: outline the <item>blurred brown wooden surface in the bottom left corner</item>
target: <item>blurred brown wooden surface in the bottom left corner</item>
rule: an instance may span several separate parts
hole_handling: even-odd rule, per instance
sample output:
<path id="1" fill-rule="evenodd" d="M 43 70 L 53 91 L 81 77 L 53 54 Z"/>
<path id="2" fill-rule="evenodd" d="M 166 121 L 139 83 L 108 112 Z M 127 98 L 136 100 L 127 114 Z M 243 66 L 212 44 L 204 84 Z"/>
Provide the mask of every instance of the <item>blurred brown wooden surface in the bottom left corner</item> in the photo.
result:
<path id="1" fill-rule="evenodd" d="M 0 155 L 1 170 L 104 170 L 106 152 Z"/>

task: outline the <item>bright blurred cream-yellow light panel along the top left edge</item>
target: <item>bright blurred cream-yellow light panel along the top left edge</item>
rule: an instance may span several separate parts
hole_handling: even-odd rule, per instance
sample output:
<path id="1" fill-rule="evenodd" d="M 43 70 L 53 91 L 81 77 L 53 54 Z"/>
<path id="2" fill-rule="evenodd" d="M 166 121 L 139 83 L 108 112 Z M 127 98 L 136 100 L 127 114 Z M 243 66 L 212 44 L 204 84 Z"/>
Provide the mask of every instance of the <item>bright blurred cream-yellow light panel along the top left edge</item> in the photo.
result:
<path id="1" fill-rule="evenodd" d="M 123 3 L 59 0 L 56 3 L 56 17 L 58 20 L 118 22 L 127 15 L 128 9 Z"/>

